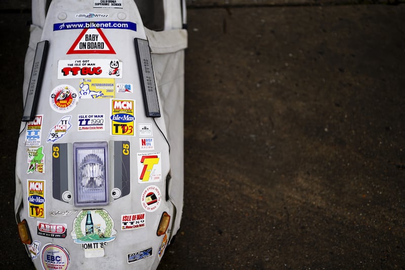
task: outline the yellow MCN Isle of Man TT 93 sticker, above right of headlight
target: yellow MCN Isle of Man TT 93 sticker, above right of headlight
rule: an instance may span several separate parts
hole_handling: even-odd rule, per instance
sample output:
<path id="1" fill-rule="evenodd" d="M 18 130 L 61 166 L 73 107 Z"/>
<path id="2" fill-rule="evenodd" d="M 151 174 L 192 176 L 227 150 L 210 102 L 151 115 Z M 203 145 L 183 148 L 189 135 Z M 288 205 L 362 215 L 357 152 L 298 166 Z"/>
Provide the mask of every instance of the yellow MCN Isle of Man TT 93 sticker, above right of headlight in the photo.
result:
<path id="1" fill-rule="evenodd" d="M 134 136 L 135 100 L 111 100 L 111 134 Z"/>

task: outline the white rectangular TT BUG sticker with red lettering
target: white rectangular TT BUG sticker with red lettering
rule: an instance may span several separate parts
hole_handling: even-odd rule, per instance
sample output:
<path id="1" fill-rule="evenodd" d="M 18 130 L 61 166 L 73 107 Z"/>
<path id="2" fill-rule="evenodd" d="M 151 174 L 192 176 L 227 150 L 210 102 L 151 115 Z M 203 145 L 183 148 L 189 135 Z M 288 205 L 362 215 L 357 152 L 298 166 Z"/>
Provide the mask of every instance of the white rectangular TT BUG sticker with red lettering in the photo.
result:
<path id="1" fill-rule="evenodd" d="M 123 78 L 123 62 L 117 59 L 58 61 L 58 79 Z"/>

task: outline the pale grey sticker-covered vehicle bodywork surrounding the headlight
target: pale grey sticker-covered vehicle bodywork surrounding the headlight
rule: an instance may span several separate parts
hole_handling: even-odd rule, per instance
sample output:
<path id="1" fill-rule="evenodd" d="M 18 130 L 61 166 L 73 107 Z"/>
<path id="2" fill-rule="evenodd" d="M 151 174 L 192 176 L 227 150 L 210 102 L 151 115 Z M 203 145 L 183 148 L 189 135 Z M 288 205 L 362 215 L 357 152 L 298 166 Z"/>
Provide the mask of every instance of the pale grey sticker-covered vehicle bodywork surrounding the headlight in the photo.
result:
<path id="1" fill-rule="evenodd" d="M 25 61 L 23 96 L 29 85 L 36 43 L 49 41 L 49 51 L 35 113 L 36 122 L 41 119 L 41 124 L 36 127 L 32 122 L 21 124 L 16 157 L 15 212 L 17 222 L 27 220 L 35 244 L 34 247 L 27 245 L 27 250 L 38 253 L 35 256 L 29 253 L 37 268 L 52 268 L 49 255 L 52 252 L 62 253 L 64 265 L 72 269 L 100 268 L 100 265 L 120 269 L 156 268 L 166 245 L 180 226 L 183 73 L 187 47 L 187 32 L 181 29 L 181 2 L 163 1 L 165 27 L 158 32 L 144 28 L 134 1 L 117 2 L 123 7 L 96 8 L 95 3 L 101 2 L 93 0 L 54 0 L 46 16 L 43 1 L 33 0 L 32 3 L 33 25 Z M 83 17 L 83 14 L 100 14 L 97 15 L 100 17 Z M 80 26 L 80 23 L 88 24 Z M 67 25 L 76 25 L 76 28 L 67 29 Z M 160 118 L 145 115 L 135 38 L 149 42 Z M 89 52 L 89 48 L 94 51 Z M 103 71 L 99 71 L 101 69 Z M 68 89 L 70 92 L 66 95 L 72 97 L 66 107 L 55 104 L 53 97 L 61 89 Z M 89 93 L 90 98 L 86 96 Z M 113 121 L 113 115 L 119 114 L 114 112 L 114 102 L 131 103 L 126 107 L 129 122 L 122 123 L 132 125 L 132 133 L 127 133 L 128 129 L 126 132 L 118 130 L 121 126 Z M 104 126 L 98 125 L 100 131 L 83 130 L 86 127 L 84 119 L 89 117 L 103 120 Z M 143 132 L 143 127 L 151 132 Z M 28 129 L 31 132 L 27 132 Z M 29 141 L 28 136 L 34 134 L 33 131 L 39 138 Z M 152 143 L 145 144 L 142 139 L 152 139 L 149 140 Z M 77 142 L 106 145 L 105 164 L 109 164 L 105 170 L 108 176 L 106 203 L 77 203 L 73 147 Z M 35 160 L 33 156 L 38 152 L 40 157 Z M 155 158 L 154 165 L 150 165 L 154 178 L 143 182 L 139 178 L 146 168 L 142 163 L 145 156 Z M 155 209 L 145 208 L 145 202 L 148 202 L 145 197 L 151 192 L 159 201 L 154 205 Z M 35 213 L 36 205 L 39 205 L 39 214 Z M 169 229 L 166 235 L 157 236 L 163 212 L 171 216 Z M 99 229 L 101 240 L 98 242 L 79 241 L 80 227 L 84 226 L 88 213 L 94 222 L 100 223 L 94 225 Z M 124 221 L 136 219 L 143 225 L 122 229 Z M 55 251 L 52 251 L 53 246 Z M 143 257 L 139 255 L 142 252 Z"/>

